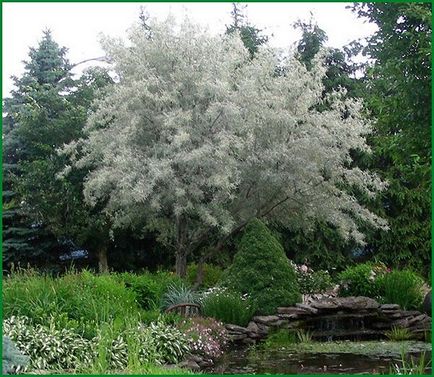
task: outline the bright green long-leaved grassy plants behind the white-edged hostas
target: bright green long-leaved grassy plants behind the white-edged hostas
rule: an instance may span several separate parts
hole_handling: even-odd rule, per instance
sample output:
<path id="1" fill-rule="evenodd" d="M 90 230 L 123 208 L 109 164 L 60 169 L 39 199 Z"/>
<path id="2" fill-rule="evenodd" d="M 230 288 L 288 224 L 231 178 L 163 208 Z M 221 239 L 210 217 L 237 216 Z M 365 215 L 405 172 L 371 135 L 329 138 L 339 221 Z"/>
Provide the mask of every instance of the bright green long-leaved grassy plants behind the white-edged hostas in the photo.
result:
<path id="1" fill-rule="evenodd" d="M 99 324 L 137 322 L 140 312 L 136 294 L 115 275 L 82 271 L 52 278 L 24 271 L 3 282 L 4 317 L 26 316 L 41 325 L 54 321 L 88 339 Z"/>

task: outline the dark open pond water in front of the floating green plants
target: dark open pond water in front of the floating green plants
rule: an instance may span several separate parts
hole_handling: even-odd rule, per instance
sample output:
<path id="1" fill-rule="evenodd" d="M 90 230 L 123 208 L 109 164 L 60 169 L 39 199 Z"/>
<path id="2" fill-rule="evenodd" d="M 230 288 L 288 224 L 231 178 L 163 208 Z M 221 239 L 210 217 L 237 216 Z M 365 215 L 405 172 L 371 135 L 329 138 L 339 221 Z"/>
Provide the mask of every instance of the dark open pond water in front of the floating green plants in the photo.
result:
<path id="1" fill-rule="evenodd" d="M 415 359 L 420 353 L 411 354 Z M 425 355 L 431 360 L 431 351 Z M 289 350 L 235 349 L 205 373 L 216 374 L 388 374 L 398 355 L 352 353 L 291 353 Z M 431 369 L 427 370 L 430 374 Z"/>

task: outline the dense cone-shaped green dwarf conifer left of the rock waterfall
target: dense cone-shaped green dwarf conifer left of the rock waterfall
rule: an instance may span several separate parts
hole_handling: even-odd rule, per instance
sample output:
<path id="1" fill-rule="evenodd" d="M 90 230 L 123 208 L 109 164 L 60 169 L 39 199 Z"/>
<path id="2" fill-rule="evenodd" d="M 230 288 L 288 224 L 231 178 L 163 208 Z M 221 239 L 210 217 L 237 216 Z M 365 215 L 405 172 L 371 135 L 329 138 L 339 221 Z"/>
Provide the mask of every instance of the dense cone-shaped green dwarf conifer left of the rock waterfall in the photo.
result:
<path id="1" fill-rule="evenodd" d="M 231 290 L 248 294 L 260 314 L 275 313 L 278 306 L 301 300 L 294 268 L 277 239 L 257 219 L 246 226 L 222 282 Z"/>

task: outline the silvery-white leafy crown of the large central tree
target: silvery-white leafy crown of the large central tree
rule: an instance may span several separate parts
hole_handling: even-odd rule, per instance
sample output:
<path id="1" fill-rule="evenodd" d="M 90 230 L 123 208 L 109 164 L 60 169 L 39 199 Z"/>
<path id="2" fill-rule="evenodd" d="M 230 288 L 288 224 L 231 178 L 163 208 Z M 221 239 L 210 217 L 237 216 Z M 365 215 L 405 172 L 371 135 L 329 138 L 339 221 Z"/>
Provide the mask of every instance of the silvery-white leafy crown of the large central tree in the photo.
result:
<path id="1" fill-rule="evenodd" d="M 183 218 L 190 245 L 260 216 L 290 227 L 324 219 L 361 243 L 359 220 L 387 228 L 343 189 L 373 197 L 385 183 L 352 166 L 351 150 L 369 152 L 362 103 L 338 91 L 315 110 L 320 55 L 307 71 L 291 51 L 262 48 L 250 60 L 238 35 L 188 20 L 152 30 L 103 39 L 119 82 L 96 104 L 87 138 L 63 149 L 90 168 L 85 198 L 104 203 L 115 227 L 140 219 L 170 243 Z"/>

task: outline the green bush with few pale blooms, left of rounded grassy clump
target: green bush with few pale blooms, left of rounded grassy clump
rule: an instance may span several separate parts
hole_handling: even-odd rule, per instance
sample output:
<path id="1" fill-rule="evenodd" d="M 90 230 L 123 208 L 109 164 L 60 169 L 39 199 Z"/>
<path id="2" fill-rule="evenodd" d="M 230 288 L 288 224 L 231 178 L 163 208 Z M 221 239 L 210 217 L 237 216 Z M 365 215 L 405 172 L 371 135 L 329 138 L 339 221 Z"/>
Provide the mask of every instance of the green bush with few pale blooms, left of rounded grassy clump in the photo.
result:
<path id="1" fill-rule="evenodd" d="M 347 267 L 338 279 L 341 296 L 365 296 L 379 298 L 381 295 L 380 277 L 385 273 L 372 263 L 361 263 Z"/>

